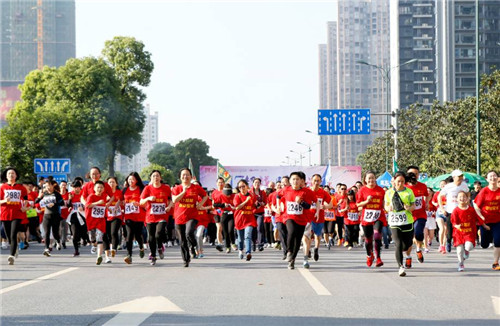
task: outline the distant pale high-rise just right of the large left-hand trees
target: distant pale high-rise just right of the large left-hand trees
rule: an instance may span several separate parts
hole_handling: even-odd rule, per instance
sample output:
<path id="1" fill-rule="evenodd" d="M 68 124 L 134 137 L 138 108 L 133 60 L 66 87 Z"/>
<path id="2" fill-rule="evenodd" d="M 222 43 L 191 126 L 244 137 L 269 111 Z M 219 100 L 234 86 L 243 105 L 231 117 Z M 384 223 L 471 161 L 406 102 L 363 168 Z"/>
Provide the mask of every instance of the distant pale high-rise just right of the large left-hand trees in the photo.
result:
<path id="1" fill-rule="evenodd" d="M 149 166 L 148 154 L 158 143 L 158 112 L 151 114 L 149 104 L 144 107 L 146 120 L 142 131 L 141 150 L 132 157 L 117 155 L 115 158 L 115 170 L 124 174 L 136 171 Z"/>

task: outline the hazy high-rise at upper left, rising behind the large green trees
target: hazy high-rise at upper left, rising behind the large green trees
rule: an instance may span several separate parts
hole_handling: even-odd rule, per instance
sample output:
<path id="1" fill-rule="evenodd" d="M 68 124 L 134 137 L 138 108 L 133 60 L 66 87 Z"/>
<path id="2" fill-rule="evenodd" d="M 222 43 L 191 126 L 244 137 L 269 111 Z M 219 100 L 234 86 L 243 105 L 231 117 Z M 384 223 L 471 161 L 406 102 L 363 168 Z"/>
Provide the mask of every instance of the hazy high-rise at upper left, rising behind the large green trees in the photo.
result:
<path id="1" fill-rule="evenodd" d="M 18 85 L 32 70 L 75 57 L 75 1 L 0 1 L 0 123 L 19 100 Z"/>

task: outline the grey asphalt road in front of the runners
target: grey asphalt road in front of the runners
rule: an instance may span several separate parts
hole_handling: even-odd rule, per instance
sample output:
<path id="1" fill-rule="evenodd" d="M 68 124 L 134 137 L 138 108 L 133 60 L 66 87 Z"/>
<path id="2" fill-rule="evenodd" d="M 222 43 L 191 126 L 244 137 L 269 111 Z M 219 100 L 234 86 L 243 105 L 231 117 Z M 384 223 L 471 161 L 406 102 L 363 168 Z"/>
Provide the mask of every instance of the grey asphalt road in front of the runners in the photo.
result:
<path id="1" fill-rule="evenodd" d="M 362 248 L 322 247 L 304 275 L 301 259 L 288 270 L 275 249 L 250 262 L 205 250 L 189 268 L 179 247 L 154 267 L 138 250 L 132 265 L 119 251 L 112 264 L 96 266 L 90 247 L 76 258 L 70 246 L 44 257 L 33 243 L 9 266 L 2 250 L 1 325 L 500 325 L 492 249 L 476 247 L 457 272 L 454 250 L 442 255 L 434 246 L 423 264 L 414 255 L 404 278 L 393 245 L 381 268 L 366 267 Z M 311 282 L 330 295 L 318 295 Z"/>

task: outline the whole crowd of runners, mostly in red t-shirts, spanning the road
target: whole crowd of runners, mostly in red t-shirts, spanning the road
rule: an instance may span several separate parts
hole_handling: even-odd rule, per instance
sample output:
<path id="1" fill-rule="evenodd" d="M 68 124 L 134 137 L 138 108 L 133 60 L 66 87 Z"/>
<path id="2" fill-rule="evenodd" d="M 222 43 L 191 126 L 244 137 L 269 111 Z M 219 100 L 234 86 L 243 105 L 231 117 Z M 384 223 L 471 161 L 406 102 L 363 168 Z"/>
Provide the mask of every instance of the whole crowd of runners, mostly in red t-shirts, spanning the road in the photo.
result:
<path id="1" fill-rule="evenodd" d="M 71 237 L 73 255 L 90 245 L 97 265 L 111 263 L 119 249 L 126 250 L 124 262 L 132 264 L 134 248 L 140 258 L 149 248 L 155 265 L 166 247 L 178 244 L 188 267 L 191 259 L 204 257 L 205 243 L 219 252 L 236 251 L 247 261 L 265 248 L 282 250 L 289 269 L 295 268 L 302 248 L 302 266 L 309 268 L 311 259 L 319 260 L 323 242 L 328 249 L 363 246 L 366 265 L 381 267 L 382 249 L 392 241 L 398 274 L 405 276 L 413 249 L 423 263 L 436 233 L 440 253 L 456 248 L 458 271 L 464 270 L 476 243 L 494 247 L 492 269 L 500 270 L 500 182 L 495 171 L 487 173 L 487 187 L 475 184 L 469 192 L 463 173 L 455 170 L 435 193 L 418 181 L 417 166 L 397 172 L 389 189 L 377 185 L 373 172 L 363 182 L 349 187 L 339 183 L 335 189 L 321 186 L 318 174 L 307 184 L 300 171 L 267 187 L 255 178 L 251 184 L 239 180 L 233 189 L 219 178 L 209 192 L 187 168 L 172 187 L 157 170 L 147 185 L 137 172 L 130 173 L 123 189 L 115 177 L 101 180 L 97 167 L 90 170 L 89 181 L 75 178 L 71 185 L 52 178 L 21 184 L 18 176 L 15 168 L 7 168 L 0 187 L 2 249 L 10 249 L 9 265 L 30 239 L 43 242 L 43 255 L 50 257 L 54 248 L 66 249 Z"/>

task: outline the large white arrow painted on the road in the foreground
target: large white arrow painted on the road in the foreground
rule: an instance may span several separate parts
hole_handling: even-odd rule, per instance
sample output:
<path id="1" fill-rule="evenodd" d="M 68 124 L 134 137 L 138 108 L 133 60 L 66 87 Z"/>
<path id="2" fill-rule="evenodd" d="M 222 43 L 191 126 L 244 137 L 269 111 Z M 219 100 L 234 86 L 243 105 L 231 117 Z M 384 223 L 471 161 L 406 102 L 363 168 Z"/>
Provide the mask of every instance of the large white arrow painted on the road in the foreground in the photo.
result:
<path id="1" fill-rule="evenodd" d="M 182 312 L 175 303 L 165 297 L 144 297 L 119 303 L 95 311 L 108 312 L 118 311 L 118 315 L 111 318 L 103 326 L 115 325 L 140 325 L 155 312 Z"/>

